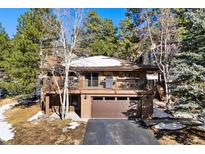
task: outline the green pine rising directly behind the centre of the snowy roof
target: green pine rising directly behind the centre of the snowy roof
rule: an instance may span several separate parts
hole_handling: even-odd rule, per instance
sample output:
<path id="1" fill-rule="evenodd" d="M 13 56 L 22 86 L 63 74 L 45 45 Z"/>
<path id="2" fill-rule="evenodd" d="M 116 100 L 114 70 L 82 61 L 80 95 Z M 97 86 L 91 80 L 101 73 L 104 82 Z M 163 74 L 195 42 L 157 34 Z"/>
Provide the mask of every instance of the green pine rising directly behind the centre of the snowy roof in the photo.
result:
<path id="1" fill-rule="evenodd" d="M 91 55 L 113 56 L 116 52 L 116 29 L 110 19 L 101 19 L 96 11 L 88 12 L 81 31 L 80 48 Z"/>

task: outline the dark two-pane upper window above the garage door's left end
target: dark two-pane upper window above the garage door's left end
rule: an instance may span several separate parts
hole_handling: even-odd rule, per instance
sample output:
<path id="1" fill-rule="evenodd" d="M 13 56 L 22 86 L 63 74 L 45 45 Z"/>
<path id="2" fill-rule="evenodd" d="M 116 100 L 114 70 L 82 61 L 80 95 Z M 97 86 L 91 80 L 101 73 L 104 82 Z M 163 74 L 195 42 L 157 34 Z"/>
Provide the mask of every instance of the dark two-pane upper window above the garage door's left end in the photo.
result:
<path id="1" fill-rule="evenodd" d="M 98 73 L 89 72 L 85 74 L 86 87 L 98 87 Z"/>

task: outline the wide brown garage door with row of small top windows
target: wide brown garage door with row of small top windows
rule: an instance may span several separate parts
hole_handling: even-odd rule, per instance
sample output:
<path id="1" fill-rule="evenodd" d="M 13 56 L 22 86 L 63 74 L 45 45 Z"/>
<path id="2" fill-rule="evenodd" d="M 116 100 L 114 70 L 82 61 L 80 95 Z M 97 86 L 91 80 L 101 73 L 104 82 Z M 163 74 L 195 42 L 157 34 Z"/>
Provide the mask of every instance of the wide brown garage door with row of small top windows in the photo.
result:
<path id="1" fill-rule="evenodd" d="M 139 98 L 127 97 L 93 97 L 91 105 L 92 118 L 122 118 L 139 117 L 141 103 Z"/>

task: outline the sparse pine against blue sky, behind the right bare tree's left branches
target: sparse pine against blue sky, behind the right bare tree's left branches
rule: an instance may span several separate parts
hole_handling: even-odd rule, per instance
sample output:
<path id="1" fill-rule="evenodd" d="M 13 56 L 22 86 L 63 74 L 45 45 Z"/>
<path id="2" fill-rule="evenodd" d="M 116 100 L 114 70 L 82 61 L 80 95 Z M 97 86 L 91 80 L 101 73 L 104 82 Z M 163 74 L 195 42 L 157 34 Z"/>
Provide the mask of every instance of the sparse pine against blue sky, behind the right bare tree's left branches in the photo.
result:
<path id="1" fill-rule="evenodd" d="M 149 27 L 153 36 L 153 40 L 157 44 L 159 42 L 160 29 L 159 29 L 159 16 L 160 10 L 153 8 L 130 8 L 127 9 L 126 12 L 127 18 L 129 18 L 132 22 L 132 30 L 135 30 L 135 34 L 137 34 L 138 41 L 137 43 L 137 53 L 138 55 L 149 52 L 151 41 L 149 36 L 149 28 L 146 21 L 146 17 L 149 17 Z M 136 32 L 137 31 L 137 32 Z"/>

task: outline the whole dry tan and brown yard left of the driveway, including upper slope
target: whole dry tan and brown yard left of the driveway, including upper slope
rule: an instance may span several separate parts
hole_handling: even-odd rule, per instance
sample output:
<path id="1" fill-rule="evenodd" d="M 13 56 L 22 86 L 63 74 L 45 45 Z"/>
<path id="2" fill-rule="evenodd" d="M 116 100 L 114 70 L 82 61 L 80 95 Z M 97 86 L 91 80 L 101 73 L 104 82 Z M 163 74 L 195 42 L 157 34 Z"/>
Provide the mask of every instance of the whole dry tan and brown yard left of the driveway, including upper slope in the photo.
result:
<path id="1" fill-rule="evenodd" d="M 63 130 L 70 120 L 27 120 L 40 111 L 38 104 L 31 106 L 17 106 L 6 112 L 9 123 L 15 128 L 14 139 L 5 144 L 32 145 L 32 144 L 82 144 L 86 123 L 80 123 L 76 129 Z"/>

